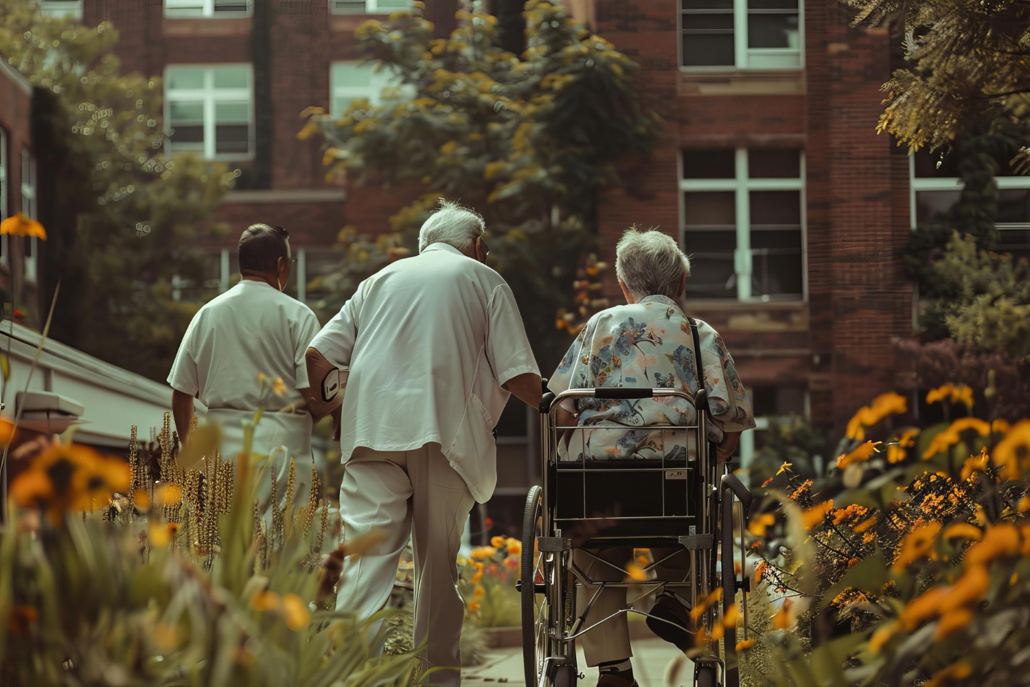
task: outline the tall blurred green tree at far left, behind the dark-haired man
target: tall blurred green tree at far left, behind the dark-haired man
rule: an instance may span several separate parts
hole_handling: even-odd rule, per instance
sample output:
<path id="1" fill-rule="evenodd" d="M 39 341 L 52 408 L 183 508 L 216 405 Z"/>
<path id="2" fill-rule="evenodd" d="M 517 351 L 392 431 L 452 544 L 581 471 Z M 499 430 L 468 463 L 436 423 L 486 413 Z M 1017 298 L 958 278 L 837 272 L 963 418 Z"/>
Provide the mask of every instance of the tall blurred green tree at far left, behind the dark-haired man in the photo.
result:
<path id="1" fill-rule="evenodd" d="M 197 228 L 236 177 L 195 158 L 163 158 L 161 81 L 121 73 L 110 24 L 84 27 L 34 8 L 0 0 L 0 55 L 38 87 L 43 278 L 52 289 L 58 278 L 64 284 L 52 335 L 163 378 L 205 296 L 173 300 L 173 277 L 201 280 Z"/>

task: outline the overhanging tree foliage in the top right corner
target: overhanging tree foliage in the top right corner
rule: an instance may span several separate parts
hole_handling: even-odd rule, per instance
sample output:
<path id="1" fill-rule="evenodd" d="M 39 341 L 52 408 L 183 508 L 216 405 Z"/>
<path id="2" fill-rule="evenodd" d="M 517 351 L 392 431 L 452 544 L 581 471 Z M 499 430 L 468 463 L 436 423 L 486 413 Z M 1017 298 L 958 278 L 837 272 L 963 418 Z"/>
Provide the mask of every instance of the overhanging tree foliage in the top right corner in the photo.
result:
<path id="1" fill-rule="evenodd" d="M 884 84 L 880 130 L 913 148 L 948 148 L 983 122 L 1028 114 L 1030 6 L 1019 0 L 842 0 L 855 24 L 904 32 L 907 68 Z M 1025 142 L 1024 142 L 1025 144 Z"/>

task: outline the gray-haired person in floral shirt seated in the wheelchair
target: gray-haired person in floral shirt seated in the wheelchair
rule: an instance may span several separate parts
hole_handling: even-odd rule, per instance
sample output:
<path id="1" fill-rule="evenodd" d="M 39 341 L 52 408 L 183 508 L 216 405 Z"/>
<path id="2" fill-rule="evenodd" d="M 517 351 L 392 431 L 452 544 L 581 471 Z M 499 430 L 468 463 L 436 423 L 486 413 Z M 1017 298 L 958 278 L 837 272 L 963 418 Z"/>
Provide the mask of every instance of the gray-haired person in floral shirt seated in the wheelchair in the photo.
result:
<path id="1" fill-rule="evenodd" d="M 707 323 L 688 317 L 680 300 L 690 276 L 690 262 L 670 236 L 656 230 L 627 230 L 616 246 L 615 272 L 626 305 L 604 310 L 583 328 L 569 348 L 548 388 L 559 393 L 569 388 L 648 386 L 698 389 L 703 377 L 711 422 L 709 439 L 717 445 L 719 460 L 736 448 L 743 431 L 755 426 L 751 400 L 733 367 L 722 338 Z M 696 338 L 692 332 L 696 327 Z M 701 371 L 695 363 L 699 349 Z M 688 425 L 695 411 L 684 399 L 566 399 L 557 412 L 558 425 L 604 422 L 626 430 L 583 430 L 566 433 L 559 447 L 561 459 L 683 458 L 687 454 L 685 431 L 662 431 L 660 425 Z M 647 426 L 658 425 L 658 426 Z M 667 579 L 690 579 L 685 549 L 652 551 L 658 574 Z M 592 551 L 576 550 L 573 561 L 591 581 L 622 582 L 622 568 L 633 557 L 629 547 Z M 607 562 L 606 562 L 607 561 Z M 577 594 L 577 615 L 593 597 L 596 586 Z M 617 613 L 626 604 L 624 588 L 602 590 L 586 626 Z M 681 650 L 691 645 L 687 632 L 687 600 L 672 591 L 655 599 L 650 613 L 671 621 L 648 618 L 648 626 Z M 682 629 L 681 629 L 682 628 Z M 619 614 L 583 634 L 587 665 L 599 667 L 598 687 L 636 685 L 626 615 Z"/>

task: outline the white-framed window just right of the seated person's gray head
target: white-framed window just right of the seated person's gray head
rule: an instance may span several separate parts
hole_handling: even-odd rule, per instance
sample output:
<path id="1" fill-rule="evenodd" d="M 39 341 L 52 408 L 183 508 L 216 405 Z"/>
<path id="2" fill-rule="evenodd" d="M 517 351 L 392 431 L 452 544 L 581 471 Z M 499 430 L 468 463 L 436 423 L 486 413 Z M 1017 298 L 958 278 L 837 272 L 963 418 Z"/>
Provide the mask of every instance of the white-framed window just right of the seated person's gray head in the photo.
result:
<path id="1" fill-rule="evenodd" d="M 694 298 L 804 296 L 804 158 L 796 148 L 683 152 L 684 250 Z"/>

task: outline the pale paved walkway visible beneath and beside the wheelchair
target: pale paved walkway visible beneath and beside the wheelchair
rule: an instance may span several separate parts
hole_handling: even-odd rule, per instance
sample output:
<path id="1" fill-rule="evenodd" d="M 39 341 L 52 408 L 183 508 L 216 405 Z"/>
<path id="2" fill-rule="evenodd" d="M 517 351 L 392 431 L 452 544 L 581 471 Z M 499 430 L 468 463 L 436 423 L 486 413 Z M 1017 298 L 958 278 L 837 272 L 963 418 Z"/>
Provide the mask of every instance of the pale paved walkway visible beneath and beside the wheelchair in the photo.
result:
<path id="1" fill-rule="evenodd" d="M 633 642 L 633 675 L 640 687 L 667 687 L 665 668 L 678 653 L 676 647 L 661 640 Z M 582 667 L 585 665 L 582 651 L 579 652 L 579 665 L 586 679 L 577 682 L 577 687 L 594 687 L 597 669 Z M 496 649 L 488 654 L 483 665 L 467 668 L 461 676 L 462 687 L 496 687 L 499 684 L 525 685 L 521 649 Z M 690 687 L 692 684 L 693 666 L 688 664 L 673 687 Z"/>

